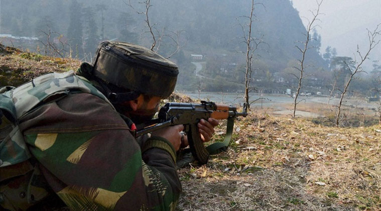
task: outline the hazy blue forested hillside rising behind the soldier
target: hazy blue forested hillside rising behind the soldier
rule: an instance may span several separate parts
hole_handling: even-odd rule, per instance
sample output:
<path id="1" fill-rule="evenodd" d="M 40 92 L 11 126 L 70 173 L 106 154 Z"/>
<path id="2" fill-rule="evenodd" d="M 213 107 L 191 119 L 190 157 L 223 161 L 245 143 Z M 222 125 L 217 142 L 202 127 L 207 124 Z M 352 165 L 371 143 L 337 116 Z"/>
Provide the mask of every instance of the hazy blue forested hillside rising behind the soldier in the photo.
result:
<path id="1" fill-rule="evenodd" d="M 78 58 L 93 53 L 102 39 L 125 40 L 147 47 L 152 44 L 145 15 L 137 12 L 145 11 L 145 5 L 138 0 L 131 0 L 134 8 L 126 4 L 128 0 L 108 0 L 107 3 L 102 0 L 0 0 L 0 3 L 0 34 L 36 36 L 44 42 L 49 30 L 58 32 L 75 51 L 71 55 Z M 248 20 L 243 16 L 249 15 L 250 1 L 151 0 L 151 4 L 150 23 L 155 27 L 153 31 L 157 37 L 168 34 L 175 38 L 174 32 L 181 31 L 180 44 L 185 46 L 172 59 L 182 67 L 182 77 L 193 71 L 190 54 L 202 54 L 206 61 L 202 74 L 237 75 L 233 79 L 240 81 L 239 68 L 244 63 L 244 54 L 238 52 L 245 51 L 240 25 L 247 24 Z M 294 66 L 295 60 L 301 58 L 295 45 L 306 39 L 303 34 L 306 29 L 290 0 L 263 0 L 256 5 L 254 13 L 254 35 L 263 35 L 264 41 L 256 53 L 258 77 L 261 72 L 273 77 L 276 72 Z M 319 67 L 327 69 L 327 63 L 319 53 L 320 36 L 317 33 L 311 35 L 316 38 L 311 43 L 316 48 L 307 56 L 307 60 L 314 64 L 310 71 Z M 41 43 L 28 44 L 17 47 L 34 50 L 39 44 L 41 50 Z M 171 44 L 171 38 L 163 36 L 159 52 L 168 55 L 174 49 Z"/>

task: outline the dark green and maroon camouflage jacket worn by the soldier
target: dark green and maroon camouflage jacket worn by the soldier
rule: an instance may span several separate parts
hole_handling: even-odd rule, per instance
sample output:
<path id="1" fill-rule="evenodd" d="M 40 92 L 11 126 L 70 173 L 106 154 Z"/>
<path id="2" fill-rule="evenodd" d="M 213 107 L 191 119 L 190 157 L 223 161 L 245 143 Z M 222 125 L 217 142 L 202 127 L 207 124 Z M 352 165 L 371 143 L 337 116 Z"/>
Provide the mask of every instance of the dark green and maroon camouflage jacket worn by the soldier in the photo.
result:
<path id="1" fill-rule="evenodd" d="M 78 78 L 65 81 L 72 77 Z M 19 119 L 49 186 L 72 210 L 173 210 L 181 184 L 172 144 L 151 137 L 141 148 L 108 100 L 79 82 L 88 90 L 73 86 L 51 95 Z M 60 84 L 53 79 L 40 86 L 48 92 Z"/>

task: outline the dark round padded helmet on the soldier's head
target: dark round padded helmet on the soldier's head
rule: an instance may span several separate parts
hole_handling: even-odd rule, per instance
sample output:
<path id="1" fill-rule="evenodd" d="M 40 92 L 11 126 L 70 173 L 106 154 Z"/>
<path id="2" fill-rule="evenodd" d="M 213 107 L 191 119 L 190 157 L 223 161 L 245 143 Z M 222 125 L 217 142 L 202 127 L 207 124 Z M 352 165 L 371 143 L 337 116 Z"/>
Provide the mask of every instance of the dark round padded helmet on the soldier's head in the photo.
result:
<path id="1" fill-rule="evenodd" d="M 103 41 L 93 63 L 95 77 L 138 93 L 171 95 L 178 67 L 154 51 L 128 42 Z"/>

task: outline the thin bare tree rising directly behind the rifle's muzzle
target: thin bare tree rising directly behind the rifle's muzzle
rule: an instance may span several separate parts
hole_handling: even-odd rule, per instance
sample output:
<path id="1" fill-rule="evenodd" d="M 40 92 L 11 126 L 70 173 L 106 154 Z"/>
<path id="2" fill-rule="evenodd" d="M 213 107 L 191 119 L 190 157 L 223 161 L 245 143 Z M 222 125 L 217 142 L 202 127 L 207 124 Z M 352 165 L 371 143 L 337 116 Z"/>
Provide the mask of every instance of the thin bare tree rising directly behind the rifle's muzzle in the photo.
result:
<path id="1" fill-rule="evenodd" d="M 245 66 L 245 93 L 244 93 L 244 100 L 247 103 L 247 109 L 250 109 L 250 102 L 249 102 L 249 92 L 253 90 L 253 87 L 250 86 L 251 80 L 252 80 L 252 59 L 255 57 L 255 52 L 258 50 L 259 46 L 265 41 L 263 40 L 263 36 L 261 35 L 260 38 L 253 37 L 252 36 L 252 22 L 254 21 L 253 17 L 255 17 L 254 9 L 255 6 L 262 3 L 255 3 L 254 0 L 251 0 L 251 8 L 250 8 L 250 15 L 249 16 L 242 16 L 248 19 L 248 23 L 246 25 L 239 24 L 241 26 L 242 32 L 243 32 L 243 42 L 246 45 L 246 66 Z M 246 31 L 247 26 L 247 31 Z M 252 102 L 251 102 L 252 103 Z"/>

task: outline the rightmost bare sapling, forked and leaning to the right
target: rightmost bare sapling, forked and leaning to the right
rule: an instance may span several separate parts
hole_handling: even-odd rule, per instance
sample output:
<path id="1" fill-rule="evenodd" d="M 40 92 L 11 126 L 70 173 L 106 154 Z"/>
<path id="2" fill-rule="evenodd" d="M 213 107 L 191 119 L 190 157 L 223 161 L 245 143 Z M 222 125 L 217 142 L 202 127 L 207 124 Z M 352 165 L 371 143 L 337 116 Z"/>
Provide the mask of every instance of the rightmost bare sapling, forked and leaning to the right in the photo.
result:
<path id="1" fill-rule="evenodd" d="M 377 37 L 380 35 L 381 33 L 381 30 L 378 29 L 378 27 L 381 25 L 381 23 L 379 23 L 375 29 L 373 31 L 370 31 L 369 29 L 367 29 L 368 31 L 368 41 L 369 41 L 369 45 L 368 45 L 368 48 L 366 50 L 366 53 L 365 55 L 363 55 L 361 52 L 360 52 L 360 49 L 357 45 L 357 55 L 359 56 L 359 62 L 357 62 L 357 65 L 352 68 L 349 64 L 345 63 L 346 67 L 348 69 L 350 69 L 351 73 L 349 75 L 349 78 L 348 80 L 346 81 L 345 83 L 345 86 L 344 86 L 344 89 L 341 93 L 341 96 L 340 96 L 340 101 L 338 103 L 338 105 L 336 105 L 337 107 L 337 113 L 336 113 L 336 126 L 339 126 L 339 121 L 340 121 L 340 114 L 341 114 L 341 105 L 342 105 L 342 102 L 343 102 L 343 98 L 345 96 L 345 93 L 348 91 L 348 87 L 349 87 L 349 84 L 350 82 L 352 81 L 354 75 L 358 72 L 362 72 L 362 63 L 365 61 L 365 59 L 367 59 L 369 57 L 369 54 L 370 54 L 370 51 L 381 41 L 380 39 L 377 39 Z"/>

